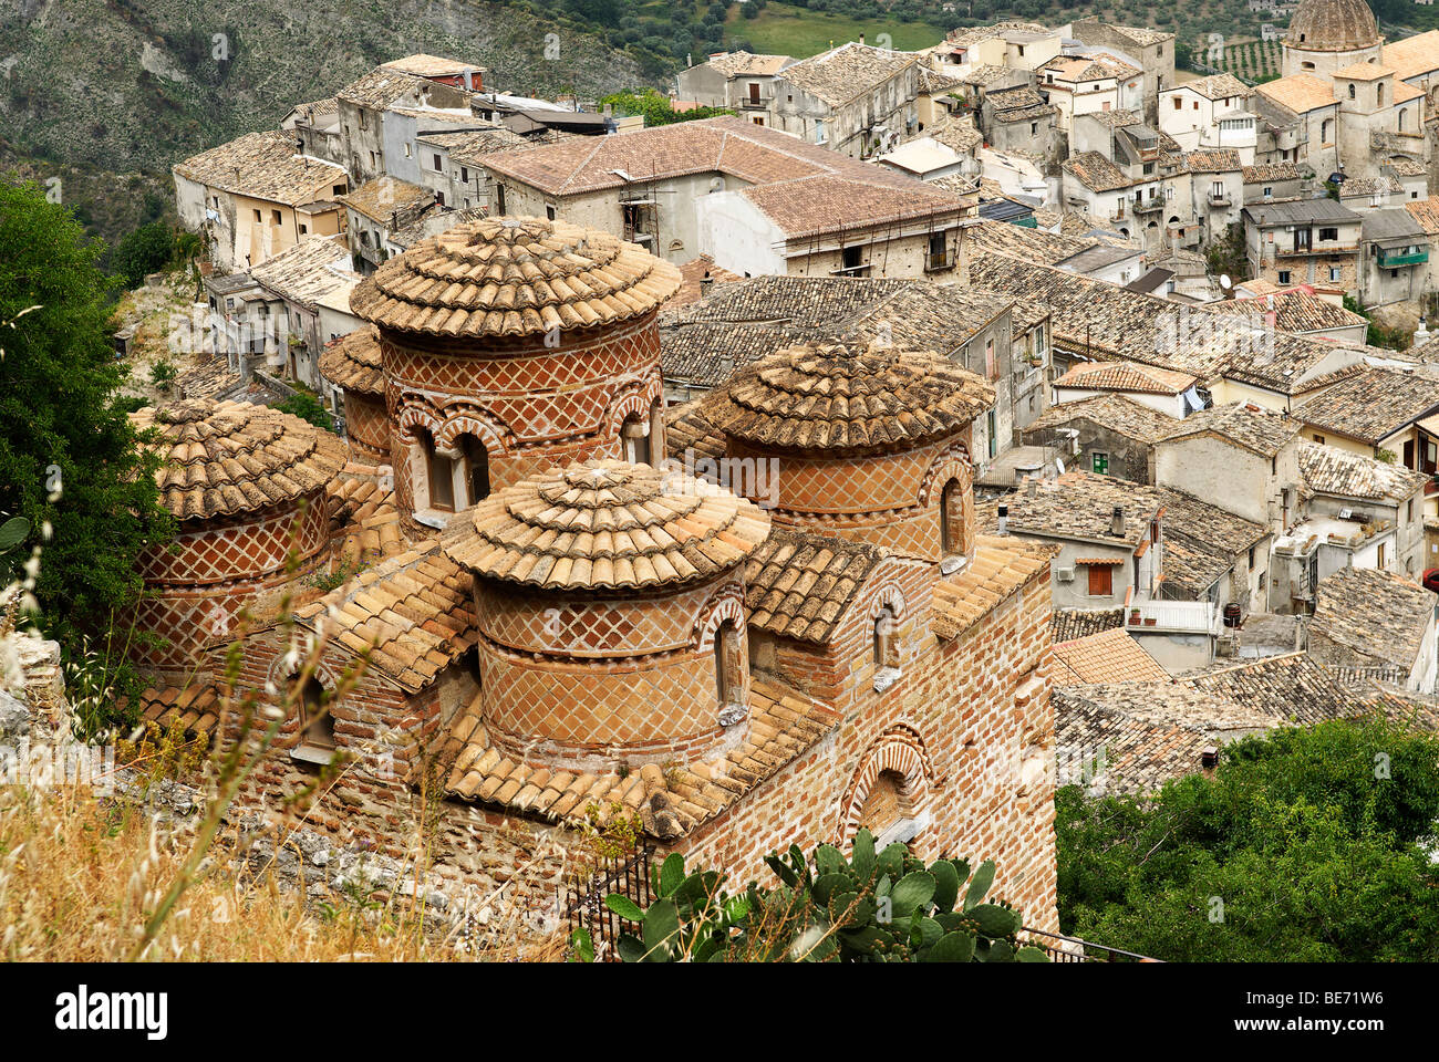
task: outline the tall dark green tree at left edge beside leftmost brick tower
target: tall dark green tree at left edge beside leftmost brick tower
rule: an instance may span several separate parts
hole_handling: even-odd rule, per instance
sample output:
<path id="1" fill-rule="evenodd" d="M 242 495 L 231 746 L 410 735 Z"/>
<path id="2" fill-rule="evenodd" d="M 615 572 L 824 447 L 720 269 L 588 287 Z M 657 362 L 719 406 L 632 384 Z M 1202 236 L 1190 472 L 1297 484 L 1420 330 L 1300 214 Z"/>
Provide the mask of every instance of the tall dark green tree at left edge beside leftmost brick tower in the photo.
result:
<path id="1" fill-rule="evenodd" d="M 36 597 L 71 650 L 121 620 L 141 590 L 137 557 L 173 532 L 158 458 L 117 409 L 128 370 L 109 344 L 99 253 L 42 189 L 0 178 L 0 512 L 30 521 L 30 544 L 52 530 Z"/>

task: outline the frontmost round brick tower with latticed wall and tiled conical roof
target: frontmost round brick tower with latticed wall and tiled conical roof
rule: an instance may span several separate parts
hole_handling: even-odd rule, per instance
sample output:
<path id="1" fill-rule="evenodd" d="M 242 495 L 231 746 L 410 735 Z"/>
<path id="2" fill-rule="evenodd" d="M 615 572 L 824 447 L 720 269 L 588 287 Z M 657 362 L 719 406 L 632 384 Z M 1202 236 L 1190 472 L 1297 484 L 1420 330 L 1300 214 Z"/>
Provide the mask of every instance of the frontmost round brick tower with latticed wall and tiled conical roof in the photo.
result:
<path id="1" fill-rule="evenodd" d="M 577 771 L 725 741 L 747 718 L 744 560 L 768 530 L 728 491 L 619 460 L 551 469 L 452 522 L 491 741 Z"/>

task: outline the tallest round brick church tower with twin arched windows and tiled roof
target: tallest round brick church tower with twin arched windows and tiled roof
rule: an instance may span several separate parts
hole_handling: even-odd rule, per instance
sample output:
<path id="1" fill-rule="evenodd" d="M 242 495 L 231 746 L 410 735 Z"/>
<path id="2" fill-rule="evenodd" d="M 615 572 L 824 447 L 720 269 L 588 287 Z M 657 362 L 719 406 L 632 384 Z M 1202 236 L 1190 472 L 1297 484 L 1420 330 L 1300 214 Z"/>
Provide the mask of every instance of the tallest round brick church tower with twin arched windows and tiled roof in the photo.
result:
<path id="1" fill-rule="evenodd" d="M 678 289 L 642 248 L 535 217 L 460 224 L 355 288 L 378 328 L 406 531 L 551 465 L 662 458 L 655 318 Z"/>

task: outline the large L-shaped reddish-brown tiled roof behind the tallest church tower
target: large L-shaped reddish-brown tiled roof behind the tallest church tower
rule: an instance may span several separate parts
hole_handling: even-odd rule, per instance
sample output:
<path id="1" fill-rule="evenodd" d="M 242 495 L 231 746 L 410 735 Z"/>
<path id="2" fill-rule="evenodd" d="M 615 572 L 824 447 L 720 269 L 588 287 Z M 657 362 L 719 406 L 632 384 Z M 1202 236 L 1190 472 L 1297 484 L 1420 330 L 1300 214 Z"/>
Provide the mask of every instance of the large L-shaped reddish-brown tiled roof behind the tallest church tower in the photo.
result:
<path id="1" fill-rule="evenodd" d="M 734 115 L 505 151 L 485 167 L 553 196 L 625 187 L 620 174 L 655 181 L 721 173 L 740 178 L 740 194 L 789 239 L 967 209 L 953 193 Z"/>

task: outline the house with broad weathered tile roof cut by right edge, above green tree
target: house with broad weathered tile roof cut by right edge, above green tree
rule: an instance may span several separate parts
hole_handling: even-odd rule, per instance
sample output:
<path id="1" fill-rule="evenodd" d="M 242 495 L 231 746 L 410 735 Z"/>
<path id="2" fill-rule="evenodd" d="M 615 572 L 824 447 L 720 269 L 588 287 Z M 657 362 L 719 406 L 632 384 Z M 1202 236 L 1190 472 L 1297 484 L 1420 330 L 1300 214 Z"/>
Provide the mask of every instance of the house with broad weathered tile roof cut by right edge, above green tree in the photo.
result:
<path id="1" fill-rule="evenodd" d="M 1320 581 L 1308 622 L 1309 655 L 1419 694 L 1433 694 L 1436 597 L 1392 571 L 1343 568 Z"/>

